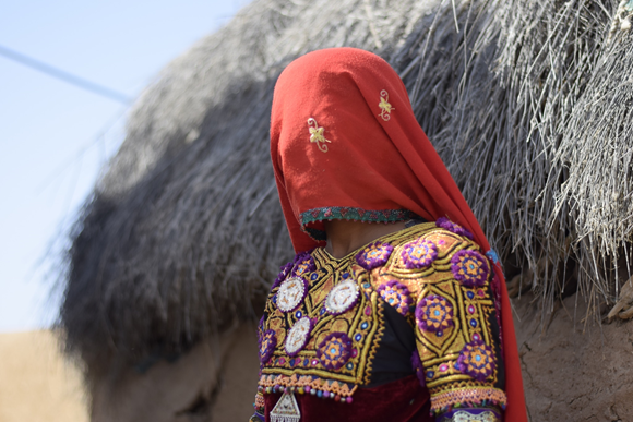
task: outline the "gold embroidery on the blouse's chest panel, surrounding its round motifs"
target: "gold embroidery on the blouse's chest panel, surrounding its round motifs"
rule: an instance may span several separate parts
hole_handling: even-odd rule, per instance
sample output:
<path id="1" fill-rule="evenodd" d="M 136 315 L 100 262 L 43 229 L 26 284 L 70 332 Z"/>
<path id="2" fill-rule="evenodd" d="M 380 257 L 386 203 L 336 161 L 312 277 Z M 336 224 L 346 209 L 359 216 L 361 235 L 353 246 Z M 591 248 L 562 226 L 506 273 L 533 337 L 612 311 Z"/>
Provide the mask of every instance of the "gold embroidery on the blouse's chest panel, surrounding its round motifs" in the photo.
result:
<path id="1" fill-rule="evenodd" d="M 271 360 L 262 367 L 260 385 L 271 386 L 271 382 L 266 381 L 265 377 L 274 375 L 276 379 L 273 385 L 310 386 L 320 390 L 336 391 L 336 394 L 347 397 L 351 395 L 357 385 L 369 383 L 372 360 L 384 331 L 384 327 L 381 326 L 384 321 L 383 305 L 378 300 L 378 294 L 365 296 L 361 293 L 357 303 L 348 311 L 339 315 L 327 313 L 324 308 L 327 293 L 334 286 L 343 281 L 343 274 L 350 273 L 351 264 L 355 261 L 350 258 L 336 262 L 321 249 L 315 250 L 312 257 L 316 265 L 316 270 L 312 273 L 314 278 L 308 277 L 310 290 L 296 311 L 282 313 L 274 302 L 270 300 L 266 302 L 265 313 L 267 317 L 264 327 L 275 330 L 277 348 Z M 275 296 L 278 289 L 278 287 L 273 289 L 271 297 Z M 288 335 L 287 327 L 294 326 L 296 321 L 304 315 L 315 321 L 310 339 L 295 357 L 289 357 L 283 340 Z M 344 333 L 351 341 L 353 354 L 346 364 L 337 370 L 325 367 L 316 355 L 319 345 L 330 333 Z M 294 377 L 295 375 L 297 377 Z M 301 379 L 301 376 L 308 376 L 308 378 Z M 332 386 L 324 379 L 327 379 L 330 384 L 338 382 L 341 386 Z M 325 384 L 327 384 L 327 388 L 325 388 Z"/>

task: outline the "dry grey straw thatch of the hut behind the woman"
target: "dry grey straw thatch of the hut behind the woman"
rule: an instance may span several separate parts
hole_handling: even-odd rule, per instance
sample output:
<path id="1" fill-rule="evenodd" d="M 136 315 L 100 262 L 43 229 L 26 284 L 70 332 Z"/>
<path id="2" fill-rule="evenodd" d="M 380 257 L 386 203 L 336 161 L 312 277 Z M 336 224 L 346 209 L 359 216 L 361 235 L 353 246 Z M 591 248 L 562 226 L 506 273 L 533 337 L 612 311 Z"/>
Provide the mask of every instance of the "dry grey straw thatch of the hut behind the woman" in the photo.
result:
<path id="1" fill-rule="evenodd" d="M 535 269 L 524 281 L 546 309 L 575 290 L 570 278 L 612 301 L 633 229 L 631 11 L 633 1 L 255 0 L 132 110 L 72 233 L 69 350 L 94 367 L 138 362 L 256 313 L 291 255 L 268 165 L 274 83 L 294 58 L 333 46 L 375 51 L 401 73 L 509 269 Z"/>

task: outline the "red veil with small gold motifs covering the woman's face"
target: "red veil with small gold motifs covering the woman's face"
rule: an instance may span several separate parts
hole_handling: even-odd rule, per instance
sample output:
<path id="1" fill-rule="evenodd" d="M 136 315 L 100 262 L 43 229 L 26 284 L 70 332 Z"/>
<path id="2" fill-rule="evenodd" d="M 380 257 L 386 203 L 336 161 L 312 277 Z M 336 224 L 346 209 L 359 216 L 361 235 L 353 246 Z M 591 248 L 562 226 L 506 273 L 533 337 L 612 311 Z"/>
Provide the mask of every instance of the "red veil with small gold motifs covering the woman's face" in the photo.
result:
<path id="1" fill-rule="evenodd" d="M 429 221 L 446 217 L 490 251 L 479 222 L 417 122 L 402 80 L 371 52 L 324 49 L 284 70 L 273 99 L 271 157 L 296 252 L 324 244 L 324 220 L 393 222 L 413 215 Z M 522 422 L 527 417 L 512 311 L 503 273 L 494 264 L 505 420 Z"/>

